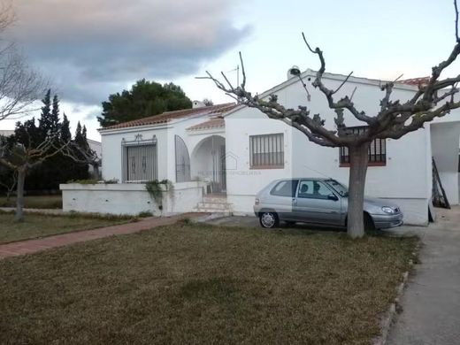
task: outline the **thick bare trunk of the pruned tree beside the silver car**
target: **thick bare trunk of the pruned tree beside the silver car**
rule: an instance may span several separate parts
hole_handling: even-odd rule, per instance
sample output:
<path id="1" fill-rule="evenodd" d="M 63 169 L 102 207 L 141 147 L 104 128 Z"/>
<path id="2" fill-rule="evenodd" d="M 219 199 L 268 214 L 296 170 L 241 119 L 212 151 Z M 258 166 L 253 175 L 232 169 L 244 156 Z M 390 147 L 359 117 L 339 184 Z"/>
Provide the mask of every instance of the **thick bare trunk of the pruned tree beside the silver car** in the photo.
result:
<path id="1" fill-rule="evenodd" d="M 349 212 L 347 233 L 352 238 L 364 236 L 364 186 L 369 142 L 349 147 Z"/>

